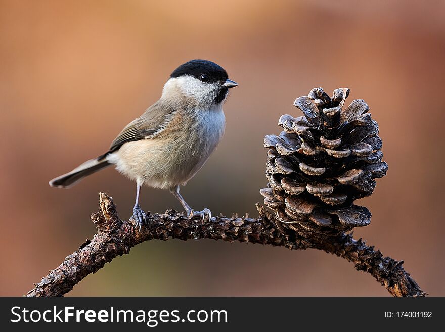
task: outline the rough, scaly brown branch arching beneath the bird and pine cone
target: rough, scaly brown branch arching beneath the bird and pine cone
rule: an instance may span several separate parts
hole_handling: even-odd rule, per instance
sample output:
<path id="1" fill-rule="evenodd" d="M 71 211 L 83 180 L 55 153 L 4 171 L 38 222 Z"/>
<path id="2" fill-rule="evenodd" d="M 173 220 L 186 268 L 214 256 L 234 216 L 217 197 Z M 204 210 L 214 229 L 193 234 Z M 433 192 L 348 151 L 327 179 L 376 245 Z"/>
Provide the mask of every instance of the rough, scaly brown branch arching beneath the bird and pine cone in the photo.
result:
<path id="1" fill-rule="evenodd" d="M 63 296 L 88 274 L 95 273 L 115 257 L 128 254 L 130 248 L 138 243 L 168 238 L 251 242 L 288 249 L 316 248 L 354 262 L 357 270 L 370 273 L 393 296 L 426 295 L 405 272 L 403 261 L 383 257 L 380 251 L 374 251 L 373 247 L 344 233 L 329 240 L 300 238 L 296 233 L 284 231 L 279 223 L 274 222 L 274 215 L 259 205 L 260 217 L 257 219 L 221 216 L 203 221 L 199 217 L 187 219 L 174 210 L 167 210 L 164 214 L 149 214 L 148 224 L 139 233 L 135 231 L 131 220 L 119 218 L 112 198 L 104 193 L 99 195 L 101 212 L 91 216 L 97 225 L 97 234 L 67 256 L 26 296 Z"/>

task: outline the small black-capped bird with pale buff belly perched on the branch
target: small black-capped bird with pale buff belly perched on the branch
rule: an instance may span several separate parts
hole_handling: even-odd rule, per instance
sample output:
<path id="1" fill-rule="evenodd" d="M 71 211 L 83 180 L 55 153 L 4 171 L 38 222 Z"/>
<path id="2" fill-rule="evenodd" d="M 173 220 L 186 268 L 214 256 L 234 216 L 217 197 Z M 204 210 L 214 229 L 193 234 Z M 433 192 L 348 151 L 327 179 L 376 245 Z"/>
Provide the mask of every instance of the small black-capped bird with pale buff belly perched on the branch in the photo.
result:
<path id="1" fill-rule="evenodd" d="M 142 186 L 170 191 L 189 218 L 211 220 L 211 211 L 194 211 L 180 194 L 180 185 L 204 166 L 218 146 L 226 127 L 222 109 L 229 89 L 238 84 L 224 68 L 209 60 L 190 60 L 177 67 L 162 89 L 161 97 L 112 141 L 107 152 L 85 161 L 49 184 L 69 188 L 84 177 L 114 165 L 136 182 L 133 207 L 135 229 L 148 222 L 140 206 Z"/>

